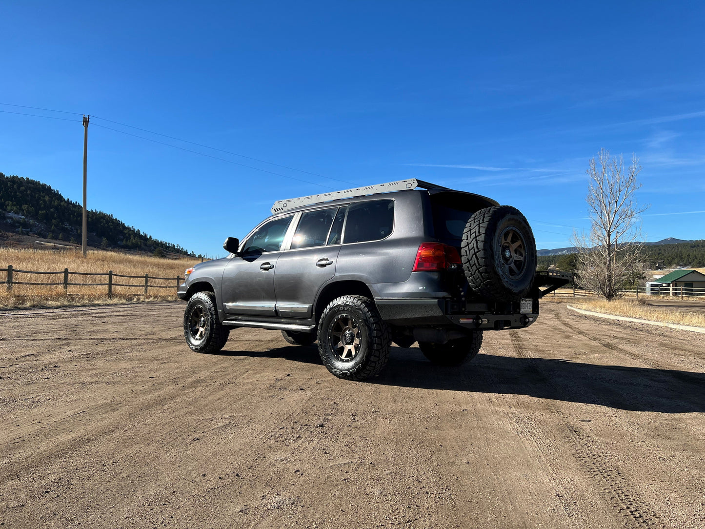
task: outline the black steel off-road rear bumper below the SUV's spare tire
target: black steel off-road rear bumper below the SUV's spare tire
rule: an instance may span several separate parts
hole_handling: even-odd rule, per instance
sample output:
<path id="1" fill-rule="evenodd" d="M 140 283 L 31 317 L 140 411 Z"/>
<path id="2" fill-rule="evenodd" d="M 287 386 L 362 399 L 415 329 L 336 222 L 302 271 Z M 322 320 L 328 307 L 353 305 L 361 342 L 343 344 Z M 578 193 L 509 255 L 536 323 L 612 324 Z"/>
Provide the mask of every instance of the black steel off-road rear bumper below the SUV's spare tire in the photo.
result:
<path id="1" fill-rule="evenodd" d="M 519 312 L 489 312 L 481 306 L 466 308 L 465 312 L 452 310 L 445 299 L 377 299 L 377 309 L 382 319 L 399 326 L 462 327 L 463 329 L 523 329 L 539 317 L 539 302 L 534 299 L 530 314 Z"/>

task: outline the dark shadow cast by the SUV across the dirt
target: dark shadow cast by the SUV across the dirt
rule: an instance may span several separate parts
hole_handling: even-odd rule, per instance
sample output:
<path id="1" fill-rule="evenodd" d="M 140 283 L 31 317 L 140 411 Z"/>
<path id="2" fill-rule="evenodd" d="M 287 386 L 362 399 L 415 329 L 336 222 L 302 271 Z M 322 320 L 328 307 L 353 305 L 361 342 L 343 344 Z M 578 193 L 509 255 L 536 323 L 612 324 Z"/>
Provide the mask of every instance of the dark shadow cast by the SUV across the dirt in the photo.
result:
<path id="1" fill-rule="evenodd" d="M 315 346 L 216 354 L 321 364 Z M 392 347 L 384 372 L 365 382 L 417 389 L 527 395 L 629 411 L 705 412 L 705 373 L 651 367 L 483 354 L 461 367 L 441 367 L 431 364 L 417 348 Z"/>

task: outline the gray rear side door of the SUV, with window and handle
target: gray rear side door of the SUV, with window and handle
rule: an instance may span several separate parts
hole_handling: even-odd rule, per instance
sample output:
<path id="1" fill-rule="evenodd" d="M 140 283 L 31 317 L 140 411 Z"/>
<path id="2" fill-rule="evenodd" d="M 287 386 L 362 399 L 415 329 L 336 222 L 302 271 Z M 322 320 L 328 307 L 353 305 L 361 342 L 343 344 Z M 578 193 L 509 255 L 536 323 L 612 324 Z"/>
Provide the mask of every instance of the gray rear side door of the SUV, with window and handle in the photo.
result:
<path id="1" fill-rule="evenodd" d="M 290 248 L 279 255 L 274 269 L 279 316 L 312 317 L 316 294 L 336 274 L 346 209 L 327 207 L 301 214 Z"/>

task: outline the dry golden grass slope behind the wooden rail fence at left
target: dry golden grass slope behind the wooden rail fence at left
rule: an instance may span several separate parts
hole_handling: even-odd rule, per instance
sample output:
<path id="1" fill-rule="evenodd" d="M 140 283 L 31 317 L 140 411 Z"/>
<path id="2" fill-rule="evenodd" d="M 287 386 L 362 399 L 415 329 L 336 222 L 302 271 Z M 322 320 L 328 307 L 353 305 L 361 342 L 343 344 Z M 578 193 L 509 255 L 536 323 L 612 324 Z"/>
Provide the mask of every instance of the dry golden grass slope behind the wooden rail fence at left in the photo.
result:
<path id="1" fill-rule="evenodd" d="M 92 272 L 105 274 L 112 270 L 115 274 L 142 276 L 142 279 L 114 278 L 114 283 L 140 285 L 137 287 L 114 286 L 113 298 L 108 298 L 107 286 L 35 286 L 13 284 L 12 291 L 0 284 L 0 307 L 68 306 L 92 303 L 124 303 L 136 300 L 176 299 L 176 279 L 149 279 L 149 291 L 145 296 L 145 274 L 155 277 L 183 278 L 183 271 L 200 262 L 195 257 L 161 259 L 145 255 L 131 255 L 102 250 L 89 250 L 87 257 L 73 251 L 17 250 L 0 248 L 0 268 L 12 265 L 15 270 L 32 272 L 59 272 L 58 274 L 13 273 L 13 281 L 33 283 L 62 283 L 63 269 L 70 272 Z M 0 272 L 0 281 L 7 280 L 7 272 Z M 70 283 L 107 283 L 107 276 L 69 275 Z M 169 286 L 171 288 L 151 288 Z"/>

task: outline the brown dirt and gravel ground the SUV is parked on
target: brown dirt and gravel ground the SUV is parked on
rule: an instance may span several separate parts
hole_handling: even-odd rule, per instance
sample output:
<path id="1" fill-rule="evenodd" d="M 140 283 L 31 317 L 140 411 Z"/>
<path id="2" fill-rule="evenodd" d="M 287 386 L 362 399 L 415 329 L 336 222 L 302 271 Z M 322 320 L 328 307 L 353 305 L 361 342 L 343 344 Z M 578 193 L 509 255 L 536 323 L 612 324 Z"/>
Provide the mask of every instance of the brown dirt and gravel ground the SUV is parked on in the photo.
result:
<path id="1" fill-rule="evenodd" d="M 183 343 L 183 304 L 0 314 L 5 528 L 703 528 L 699 335 L 542 305 L 455 369 Z"/>

